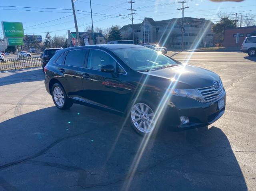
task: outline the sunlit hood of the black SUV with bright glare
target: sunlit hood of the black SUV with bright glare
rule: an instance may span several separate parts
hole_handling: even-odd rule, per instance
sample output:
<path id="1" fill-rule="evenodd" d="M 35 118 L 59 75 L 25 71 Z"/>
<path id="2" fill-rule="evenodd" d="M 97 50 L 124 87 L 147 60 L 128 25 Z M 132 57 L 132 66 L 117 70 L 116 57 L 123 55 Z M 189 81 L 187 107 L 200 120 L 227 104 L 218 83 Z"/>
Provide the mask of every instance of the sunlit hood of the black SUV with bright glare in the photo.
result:
<path id="1" fill-rule="evenodd" d="M 216 73 L 190 65 L 177 65 L 170 68 L 146 72 L 145 74 L 167 79 L 165 86 L 168 87 L 170 83 L 173 83 L 177 89 L 210 87 L 213 85 L 214 80 L 220 80 L 220 77 Z"/>

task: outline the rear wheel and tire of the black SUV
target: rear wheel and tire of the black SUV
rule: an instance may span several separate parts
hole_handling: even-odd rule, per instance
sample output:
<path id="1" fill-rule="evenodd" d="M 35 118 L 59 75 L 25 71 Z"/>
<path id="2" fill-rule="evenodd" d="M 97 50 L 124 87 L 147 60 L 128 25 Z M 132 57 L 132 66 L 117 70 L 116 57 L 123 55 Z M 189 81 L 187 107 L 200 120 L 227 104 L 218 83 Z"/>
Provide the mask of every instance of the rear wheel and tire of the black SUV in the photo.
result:
<path id="1" fill-rule="evenodd" d="M 73 105 L 72 100 L 67 97 L 64 88 L 59 83 L 52 86 L 52 100 L 55 106 L 61 110 L 68 109 Z"/>

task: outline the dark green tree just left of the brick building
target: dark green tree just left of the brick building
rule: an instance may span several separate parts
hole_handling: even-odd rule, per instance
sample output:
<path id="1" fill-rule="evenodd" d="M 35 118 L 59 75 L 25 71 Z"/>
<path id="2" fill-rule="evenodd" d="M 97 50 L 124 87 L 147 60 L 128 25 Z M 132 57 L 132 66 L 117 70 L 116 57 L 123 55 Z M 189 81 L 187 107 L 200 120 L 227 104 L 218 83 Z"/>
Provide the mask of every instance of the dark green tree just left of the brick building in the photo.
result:
<path id="1" fill-rule="evenodd" d="M 212 27 L 212 31 L 216 34 L 216 43 L 222 43 L 224 39 L 224 30 L 226 28 L 235 28 L 236 23 L 228 17 L 220 19 L 220 22 Z"/>

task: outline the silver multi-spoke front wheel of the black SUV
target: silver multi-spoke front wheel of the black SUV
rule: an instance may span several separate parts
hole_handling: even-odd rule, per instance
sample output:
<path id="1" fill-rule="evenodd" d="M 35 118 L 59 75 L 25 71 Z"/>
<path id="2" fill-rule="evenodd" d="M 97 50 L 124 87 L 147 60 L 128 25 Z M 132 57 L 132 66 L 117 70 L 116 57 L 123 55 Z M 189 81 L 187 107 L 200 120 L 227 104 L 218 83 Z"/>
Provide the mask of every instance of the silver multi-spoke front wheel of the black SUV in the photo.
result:
<path id="1" fill-rule="evenodd" d="M 131 110 L 132 123 L 142 133 L 150 133 L 154 129 L 154 112 L 144 103 L 137 103 Z"/>

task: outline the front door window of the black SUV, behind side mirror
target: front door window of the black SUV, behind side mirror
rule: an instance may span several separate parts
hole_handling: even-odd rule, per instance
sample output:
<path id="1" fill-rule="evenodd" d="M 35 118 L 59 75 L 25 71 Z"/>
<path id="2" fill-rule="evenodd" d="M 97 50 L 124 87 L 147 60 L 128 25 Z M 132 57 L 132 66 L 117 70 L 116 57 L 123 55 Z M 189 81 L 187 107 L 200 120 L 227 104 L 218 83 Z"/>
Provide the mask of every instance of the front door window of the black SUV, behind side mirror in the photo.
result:
<path id="1" fill-rule="evenodd" d="M 100 70 L 104 65 L 113 65 L 116 68 L 116 61 L 104 51 L 90 50 L 87 68 Z"/>

